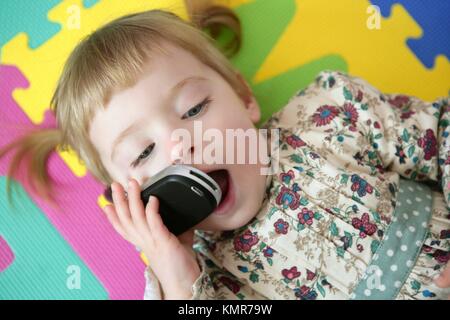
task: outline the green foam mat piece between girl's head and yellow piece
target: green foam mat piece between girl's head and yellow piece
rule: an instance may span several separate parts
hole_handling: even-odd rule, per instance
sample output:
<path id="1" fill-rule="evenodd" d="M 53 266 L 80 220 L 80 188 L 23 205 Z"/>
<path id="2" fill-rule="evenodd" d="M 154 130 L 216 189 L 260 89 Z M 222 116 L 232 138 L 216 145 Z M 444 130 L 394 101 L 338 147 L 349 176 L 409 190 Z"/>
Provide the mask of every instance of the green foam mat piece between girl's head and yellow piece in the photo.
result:
<path id="1" fill-rule="evenodd" d="M 254 75 L 277 43 L 296 11 L 295 0 L 253 1 L 235 8 L 242 23 L 242 48 L 231 59 L 247 79 L 261 107 L 261 121 L 267 120 L 284 106 L 289 98 L 314 80 L 325 69 L 348 71 L 346 61 L 330 54 L 261 83 Z"/>

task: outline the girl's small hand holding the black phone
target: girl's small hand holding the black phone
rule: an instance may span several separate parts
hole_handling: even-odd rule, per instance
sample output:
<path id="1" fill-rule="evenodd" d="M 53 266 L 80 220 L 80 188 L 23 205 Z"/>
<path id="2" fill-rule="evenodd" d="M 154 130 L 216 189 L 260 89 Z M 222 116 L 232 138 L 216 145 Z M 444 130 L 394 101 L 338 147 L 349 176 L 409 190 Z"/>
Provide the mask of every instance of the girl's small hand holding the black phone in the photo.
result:
<path id="1" fill-rule="evenodd" d="M 103 208 L 114 229 L 127 241 L 142 249 L 158 278 L 165 299 L 188 299 L 200 268 L 192 249 L 193 231 L 175 236 L 163 223 L 159 201 L 151 196 L 147 205 L 132 179 L 128 194 L 119 183 L 111 185 L 114 205 Z"/>

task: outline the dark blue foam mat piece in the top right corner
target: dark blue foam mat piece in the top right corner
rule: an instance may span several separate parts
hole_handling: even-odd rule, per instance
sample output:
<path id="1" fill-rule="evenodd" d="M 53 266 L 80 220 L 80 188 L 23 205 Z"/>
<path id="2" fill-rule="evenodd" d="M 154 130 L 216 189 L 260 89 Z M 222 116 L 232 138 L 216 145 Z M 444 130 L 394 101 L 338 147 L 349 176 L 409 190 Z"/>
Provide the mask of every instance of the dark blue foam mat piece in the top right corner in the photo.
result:
<path id="1" fill-rule="evenodd" d="M 408 39 L 407 44 L 427 68 L 432 68 L 437 55 L 450 57 L 449 0 L 371 0 L 388 17 L 392 5 L 401 4 L 423 30 L 419 39 Z"/>

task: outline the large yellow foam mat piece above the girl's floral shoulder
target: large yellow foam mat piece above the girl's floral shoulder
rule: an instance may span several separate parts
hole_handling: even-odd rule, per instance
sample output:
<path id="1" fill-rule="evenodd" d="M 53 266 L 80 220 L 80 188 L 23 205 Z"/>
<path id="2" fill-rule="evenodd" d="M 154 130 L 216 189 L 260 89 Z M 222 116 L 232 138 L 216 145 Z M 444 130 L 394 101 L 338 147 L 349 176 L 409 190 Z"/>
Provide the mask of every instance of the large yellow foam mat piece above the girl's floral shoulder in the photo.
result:
<path id="1" fill-rule="evenodd" d="M 405 42 L 422 34 L 407 11 L 394 5 L 389 19 L 381 17 L 380 29 L 370 29 L 370 5 L 369 1 L 297 0 L 294 19 L 256 73 L 255 83 L 338 54 L 348 62 L 350 74 L 383 92 L 424 100 L 446 96 L 450 88 L 448 59 L 439 56 L 434 69 L 425 68 Z"/>

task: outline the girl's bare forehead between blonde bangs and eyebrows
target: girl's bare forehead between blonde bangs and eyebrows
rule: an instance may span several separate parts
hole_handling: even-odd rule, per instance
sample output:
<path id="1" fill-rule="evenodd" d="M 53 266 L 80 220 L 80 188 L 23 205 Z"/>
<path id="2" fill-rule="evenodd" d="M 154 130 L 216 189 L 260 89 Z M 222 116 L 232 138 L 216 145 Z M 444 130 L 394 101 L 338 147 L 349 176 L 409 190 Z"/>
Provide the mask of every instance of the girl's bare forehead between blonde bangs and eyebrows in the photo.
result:
<path id="1" fill-rule="evenodd" d="M 94 115 L 89 134 L 102 157 L 109 154 L 118 133 L 143 112 L 154 111 L 175 84 L 187 77 L 211 75 L 209 68 L 190 52 L 169 43 L 163 44 L 163 50 L 151 54 L 134 85 L 114 92 L 105 108 Z"/>

